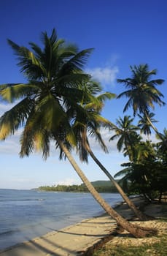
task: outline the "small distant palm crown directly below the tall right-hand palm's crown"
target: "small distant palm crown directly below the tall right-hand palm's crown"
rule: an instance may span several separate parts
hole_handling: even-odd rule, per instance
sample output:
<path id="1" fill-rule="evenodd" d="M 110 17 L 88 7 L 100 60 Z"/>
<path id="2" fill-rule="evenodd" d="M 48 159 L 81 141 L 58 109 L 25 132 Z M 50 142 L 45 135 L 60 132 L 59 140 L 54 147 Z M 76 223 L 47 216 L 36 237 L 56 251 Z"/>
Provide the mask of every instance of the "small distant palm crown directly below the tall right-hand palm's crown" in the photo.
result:
<path id="1" fill-rule="evenodd" d="M 149 123 L 149 121 L 147 120 L 147 116 L 141 116 L 139 115 L 139 122 L 138 122 L 138 127 L 140 128 L 141 130 L 141 133 L 144 133 L 144 135 L 147 135 L 147 138 L 149 140 L 149 135 L 151 135 L 151 125 Z M 153 117 L 155 116 L 154 113 L 150 112 L 148 113 L 148 116 L 149 116 L 149 120 L 153 123 L 157 123 L 158 121 L 156 121 Z"/>

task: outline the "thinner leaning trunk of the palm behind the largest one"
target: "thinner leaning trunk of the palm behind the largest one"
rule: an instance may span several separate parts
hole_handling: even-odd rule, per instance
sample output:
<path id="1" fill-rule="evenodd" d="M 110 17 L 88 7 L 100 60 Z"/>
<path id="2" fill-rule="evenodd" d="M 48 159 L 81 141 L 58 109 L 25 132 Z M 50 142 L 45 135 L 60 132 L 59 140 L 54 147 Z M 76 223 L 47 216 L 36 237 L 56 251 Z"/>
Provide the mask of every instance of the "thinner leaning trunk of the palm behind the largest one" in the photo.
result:
<path id="1" fill-rule="evenodd" d="M 117 191 L 120 193 L 120 195 L 123 197 L 123 199 L 125 200 L 125 202 L 128 204 L 128 206 L 132 209 L 132 211 L 136 214 L 136 216 L 141 219 L 148 219 L 147 216 L 145 216 L 141 211 L 139 211 L 138 208 L 136 208 L 136 206 L 133 204 L 133 202 L 128 198 L 127 195 L 125 195 L 125 192 L 123 192 L 123 189 L 120 187 L 119 184 L 117 184 L 117 182 L 114 180 L 114 178 L 111 176 L 111 174 L 108 172 L 108 170 L 106 170 L 106 168 L 104 167 L 104 165 L 101 164 L 101 162 L 98 161 L 98 159 L 96 158 L 96 156 L 93 154 L 93 151 L 91 151 L 90 146 L 88 146 L 87 144 L 87 150 L 90 154 L 90 157 L 92 157 L 92 159 L 96 162 L 96 164 L 101 168 L 101 170 L 103 170 L 103 172 L 106 174 L 106 176 L 110 179 L 110 181 L 112 181 L 112 183 L 114 184 L 114 187 L 116 187 Z"/>

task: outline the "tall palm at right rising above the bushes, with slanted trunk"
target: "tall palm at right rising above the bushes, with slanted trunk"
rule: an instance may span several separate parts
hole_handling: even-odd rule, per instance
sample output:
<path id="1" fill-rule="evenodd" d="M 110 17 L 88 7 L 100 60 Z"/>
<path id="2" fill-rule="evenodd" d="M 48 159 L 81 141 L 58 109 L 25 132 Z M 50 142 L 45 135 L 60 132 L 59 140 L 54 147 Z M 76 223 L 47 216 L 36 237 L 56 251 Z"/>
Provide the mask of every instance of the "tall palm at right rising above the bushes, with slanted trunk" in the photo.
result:
<path id="1" fill-rule="evenodd" d="M 163 79 L 151 80 L 152 75 L 157 74 L 157 70 L 153 69 L 149 71 L 147 64 L 139 66 L 130 66 L 132 72 L 132 78 L 117 79 L 118 83 L 123 83 L 127 91 L 123 91 L 117 96 L 117 99 L 121 97 L 128 97 L 128 102 L 125 105 L 124 112 L 128 108 L 133 107 L 133 115 L 136 116 L 136 113 L 144 114 L 147 118 L 148 123 L 155 130 L 156 134 L 163 140 L 163 135 L 158 132 L 158 129 L 152 124 L 152 121 L 149 118 L 150 108 L 154 109 L 154 103 L 157 103 L 160 106 L 165 105 L 163 94 L 156 88 L 163 84 Z"/>

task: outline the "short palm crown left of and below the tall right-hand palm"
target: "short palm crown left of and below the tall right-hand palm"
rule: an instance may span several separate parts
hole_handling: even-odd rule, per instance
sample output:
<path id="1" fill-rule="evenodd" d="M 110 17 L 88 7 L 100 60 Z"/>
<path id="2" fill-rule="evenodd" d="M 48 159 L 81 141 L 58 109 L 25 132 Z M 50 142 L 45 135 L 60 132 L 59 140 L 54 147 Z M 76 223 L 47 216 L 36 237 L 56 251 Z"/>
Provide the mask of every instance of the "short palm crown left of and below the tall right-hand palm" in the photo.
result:
<path id="1" fill-rule="evenodd" d="M 118 151 L 125 152 L 125 156 L 128 154 L 129 159 L 132 160 L 135 154 L 135 142 L 136 140 L 139 142 L 136 133 L 139 127 L 133 125 L 133 118 L 131 116 L 124 116 L 123 118 L 117 119 L 116 124 L 111 128 L 111 130 L 114 130 L 115 135 L 109 141 L 119 138 L 117 140 Z"/>

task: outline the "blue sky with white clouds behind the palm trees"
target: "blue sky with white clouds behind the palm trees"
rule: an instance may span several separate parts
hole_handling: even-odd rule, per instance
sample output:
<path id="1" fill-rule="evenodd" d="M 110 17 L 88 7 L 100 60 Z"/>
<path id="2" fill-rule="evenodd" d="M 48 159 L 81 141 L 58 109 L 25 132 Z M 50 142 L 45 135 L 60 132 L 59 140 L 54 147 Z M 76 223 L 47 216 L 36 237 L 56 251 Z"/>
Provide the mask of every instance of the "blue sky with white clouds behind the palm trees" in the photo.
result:
<path id="1" fill-rule="evenodd" d="M 104 91 L 120 94 L 123 86 L 116 80 L 131 76 L 129 66 L 134 64 L 149 64 L 150 69 L 158 69 L 156 78 L 167 81 L 166 12 L 166 0 L 0 1 L 0 84 L 25 81 L 7 38 L 18 45 L 40 44 L 40 33 L 50 34 L 53 28 L 58 37 L 76 43 L 80 50 L 94 48 L 85 69 L 101 82 Z M 159 89 L 167 102 L 166 83 Z M 125 102 L 126 99 L 106 102 L 103 115 L 113 122 L 123 117 Z M 0 115 L 10 107 L 0 101 Z M 159 121 L 157 127 L 163 132 L 167 107 L 155 105 L 154 112 Z M 132 111 L 127 114 L 132 115 Z M 0 188 L 31 189 L 40 185 L 81 183 L 69 162 L 60 162 L 54 150 L 46 162 L 37 153 L 20 159 L 19 135 L 20 131 L 0 142 Z M 126 159 L 117 152 L 116 142 L 109 143 L 111 135 L 105 131 L 103 135 L 109 154 L 104 154 L 94 141 L 93 151 L 114 175 Z M 79 163 L 77 157 L 76 160 Z M 79 165 L 90 181 L 107 179 L 91 160 L 89 165 Z"/>

